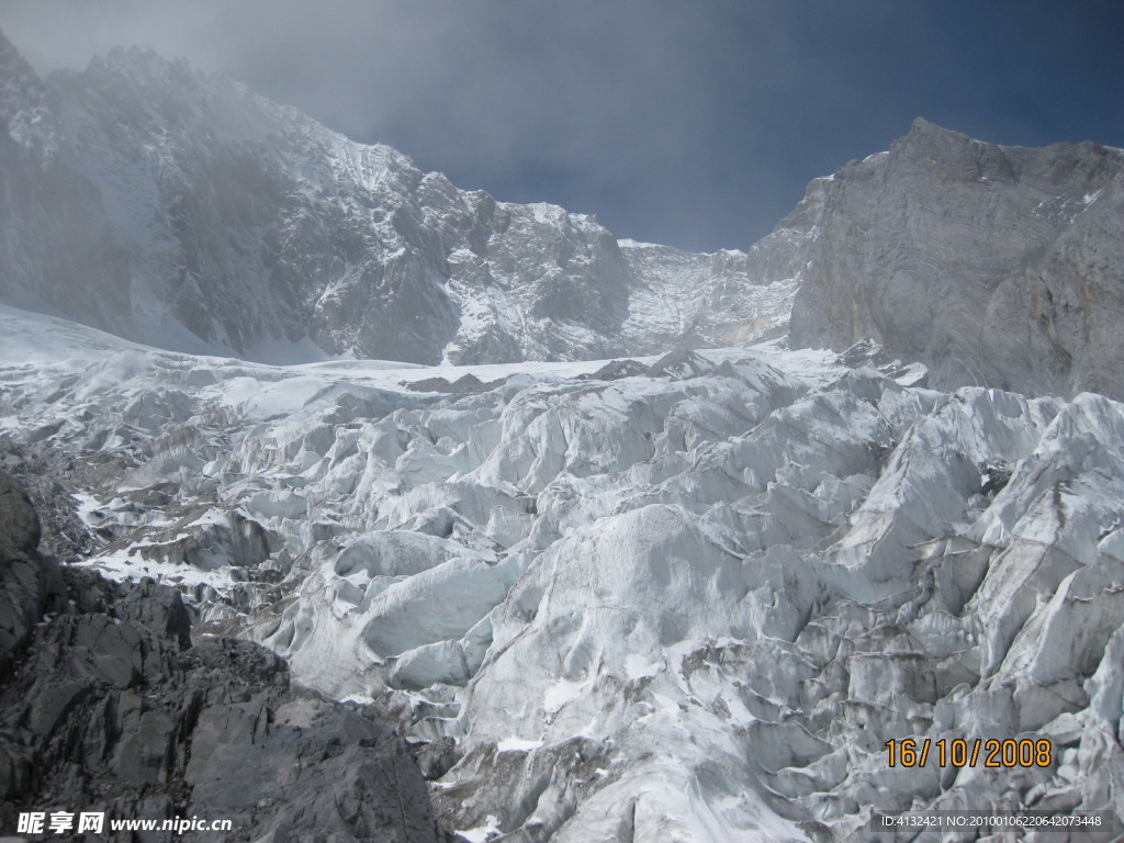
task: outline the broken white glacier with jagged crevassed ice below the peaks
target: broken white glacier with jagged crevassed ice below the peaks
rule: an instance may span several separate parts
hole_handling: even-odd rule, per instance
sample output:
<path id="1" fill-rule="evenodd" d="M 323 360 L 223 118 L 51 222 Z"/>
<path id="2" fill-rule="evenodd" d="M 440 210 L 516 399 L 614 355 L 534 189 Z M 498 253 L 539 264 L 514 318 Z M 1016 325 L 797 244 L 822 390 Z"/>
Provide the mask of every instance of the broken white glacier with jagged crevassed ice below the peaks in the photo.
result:
<path id="1" fill-rule="evenodd" d="M 397 713 L 469 840 L 1124 816 L 1109 399 L 780 343 L 435 371 L 192 357 L 10 308 L 0 336 L 3 435 L 80 456 L 89 563 Z M 890 768 L 906 737 L 1050 758 Z"/>

